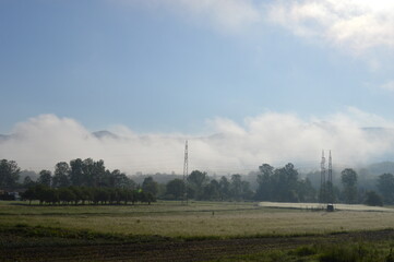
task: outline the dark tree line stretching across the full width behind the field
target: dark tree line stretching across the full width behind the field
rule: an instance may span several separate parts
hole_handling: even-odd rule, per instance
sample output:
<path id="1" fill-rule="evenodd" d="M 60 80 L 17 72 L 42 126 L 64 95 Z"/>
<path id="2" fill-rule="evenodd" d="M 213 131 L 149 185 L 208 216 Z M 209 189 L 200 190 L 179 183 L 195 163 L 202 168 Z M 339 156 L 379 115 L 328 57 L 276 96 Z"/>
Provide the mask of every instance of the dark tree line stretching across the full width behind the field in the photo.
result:
<path id="1" fill-rule="evenodd" d="M 314 188 L 307 178 L 289 163 L 274 168 L 268 164 L 259 167 L 256 187 L 242 180 L 239 174 L 212 178 L 206 172 L 193 170 L 183 182 L 176 178 L 159 184 L 146 177 L 138 184 L 118 169 L 109 170 L 104 160 L 72 159 L 56 164 L 55 171 L 41 170 L 36 181 L 25 177 L 17 183 L 21 169 L 13 160 L 0 160 L 0 189 L 22 187 L 26 200 L 62 204 L 120 204 L 165 200 L 215 200 L 215 201 L 275 201 L 275 202 L 330 202 L 367 203 L 382 205 L 394 203 L 394 176 L 383 174 L 375 180 L 375 190 L 358 187 L 358 174 L 346 168 L 341 172 L 341 183 L 326 182 Z M 34 195 L 34 196 L 32 196 Z"/>

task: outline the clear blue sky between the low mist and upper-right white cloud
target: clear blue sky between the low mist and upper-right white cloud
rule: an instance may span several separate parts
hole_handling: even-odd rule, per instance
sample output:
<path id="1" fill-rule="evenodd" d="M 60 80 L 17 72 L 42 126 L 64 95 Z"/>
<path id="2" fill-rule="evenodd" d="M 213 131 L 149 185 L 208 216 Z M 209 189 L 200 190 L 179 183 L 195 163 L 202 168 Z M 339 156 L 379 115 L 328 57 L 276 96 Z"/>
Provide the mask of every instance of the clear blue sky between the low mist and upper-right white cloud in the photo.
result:
<path id="1" fill-rule="evenodd" d="M 272 22 L 259 1 L 211 2 L 0 1 L 0 132 L 41 114 L 139 132 L 349 106 L 394 120 L 394 92 L 381 88 L 394 79 L 393 43 L 353 53 L 351 43 Z M 255 9 L 258 21 L 231 22 L 231 2 Z"/>

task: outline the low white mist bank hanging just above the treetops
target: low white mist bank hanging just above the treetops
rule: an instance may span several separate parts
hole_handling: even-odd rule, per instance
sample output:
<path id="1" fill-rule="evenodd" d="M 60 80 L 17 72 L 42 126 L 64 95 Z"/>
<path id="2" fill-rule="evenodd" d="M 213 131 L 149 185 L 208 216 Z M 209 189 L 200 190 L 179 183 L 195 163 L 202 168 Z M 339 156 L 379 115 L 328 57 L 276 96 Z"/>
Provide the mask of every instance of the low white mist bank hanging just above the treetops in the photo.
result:
<path id="1" fill-rule="evenodd" d="M 394 152 L 393 127 L 357 108 L 308 120 L 279 112 L 264 112 L 242 123 L 216 118 L 201 128 L 210 130 L 202 135 L 136 133 L 123 126 L 92 132 L 75 119 L 41 115 L 17 123 L 10 135 L 0 138 L 0 158 L 16 160 L 23 169 L 33 170 L 92 157 L 129 175 L 181 174 L 188 140 L 190 170 L 247 174 L 263 163 L 288 162 L 297 168 L 318 169 L 323 148 L 326 154 L 331 150 L 334 164 L 342 166 L 390 159 Z"/>

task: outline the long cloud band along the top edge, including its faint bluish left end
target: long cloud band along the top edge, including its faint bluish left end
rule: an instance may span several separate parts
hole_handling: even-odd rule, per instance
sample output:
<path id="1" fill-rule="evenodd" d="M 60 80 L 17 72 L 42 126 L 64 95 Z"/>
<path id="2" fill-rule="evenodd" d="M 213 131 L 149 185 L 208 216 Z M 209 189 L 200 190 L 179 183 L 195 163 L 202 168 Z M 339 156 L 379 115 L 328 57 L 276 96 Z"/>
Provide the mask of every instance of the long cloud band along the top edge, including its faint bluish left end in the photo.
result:
<path id="1" fill-rule="evenodd" d="M 256 31 L 259 25 L 274 23 L 297 36 L 320 39 L 354 55 L 375 47 L 394 48 L 394 1 L 390 0 L 116 1 L 159 11 L 169 9 L 187 21 L 192 19 L 225 33 L 244 32 L 253 26 L 253 34 L 261 34 Z"/>

